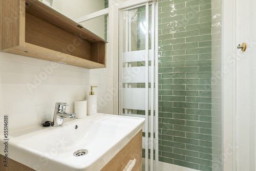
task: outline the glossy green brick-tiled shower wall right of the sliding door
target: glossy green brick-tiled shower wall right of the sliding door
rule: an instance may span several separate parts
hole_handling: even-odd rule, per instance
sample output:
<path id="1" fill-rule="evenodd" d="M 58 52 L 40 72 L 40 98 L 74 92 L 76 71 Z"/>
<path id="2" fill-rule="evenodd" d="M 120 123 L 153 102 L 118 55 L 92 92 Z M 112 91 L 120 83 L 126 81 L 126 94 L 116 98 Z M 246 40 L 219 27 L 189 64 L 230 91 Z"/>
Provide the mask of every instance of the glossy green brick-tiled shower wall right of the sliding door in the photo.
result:
<path id="1" fill-rule="evenodd" d="M 211 1 L 158 7 L 159 161 L 212 170 Z"/>

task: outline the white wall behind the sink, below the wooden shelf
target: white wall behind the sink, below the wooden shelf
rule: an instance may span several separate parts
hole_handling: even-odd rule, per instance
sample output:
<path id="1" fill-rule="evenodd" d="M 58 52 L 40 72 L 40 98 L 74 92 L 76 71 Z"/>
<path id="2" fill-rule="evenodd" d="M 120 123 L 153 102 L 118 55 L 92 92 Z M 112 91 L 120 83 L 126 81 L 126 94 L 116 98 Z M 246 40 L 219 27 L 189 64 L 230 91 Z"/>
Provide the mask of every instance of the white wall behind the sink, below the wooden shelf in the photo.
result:
<path id="1" fill-rule="evenodd" d="M 109 35 L 113 35 L 112 29 Z M 91 85 L 98 86 L 98 112 L 113 114 L 112 44 L 110 38 L 107 67 L 91 70 L 0 52 L 0 134 L 4 115 L 9 115 L 9 131 L 14 131 L 52 120 L 55 102 L 67 102 L 67 111 L 73 112 L 74 101 L 84 99 Z"/>

